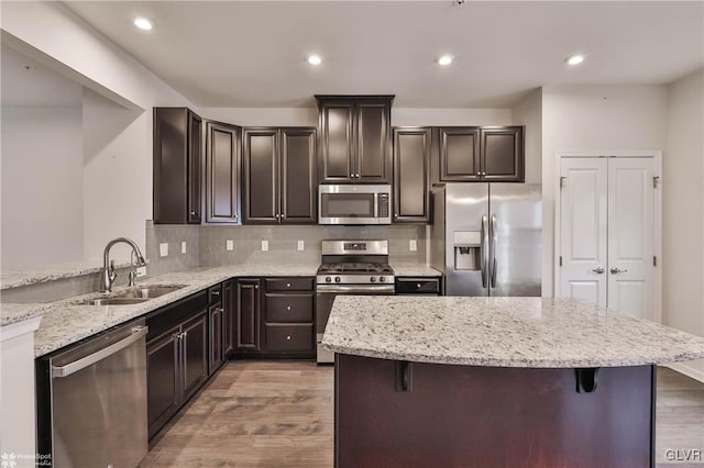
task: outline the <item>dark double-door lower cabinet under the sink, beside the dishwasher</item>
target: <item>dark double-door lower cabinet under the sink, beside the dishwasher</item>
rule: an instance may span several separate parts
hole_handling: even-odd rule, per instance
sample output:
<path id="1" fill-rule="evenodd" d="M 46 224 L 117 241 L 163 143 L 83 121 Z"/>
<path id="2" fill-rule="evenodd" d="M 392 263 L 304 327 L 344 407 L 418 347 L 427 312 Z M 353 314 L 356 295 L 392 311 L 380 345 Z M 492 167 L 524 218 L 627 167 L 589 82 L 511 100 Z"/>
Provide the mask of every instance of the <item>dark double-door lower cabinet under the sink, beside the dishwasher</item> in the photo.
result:
<path id="1" fill-rule="evenodd" d="M 208 379 L 208 300 L 200 292 L 150 313 L 146 342 L 152 438 Z"/>

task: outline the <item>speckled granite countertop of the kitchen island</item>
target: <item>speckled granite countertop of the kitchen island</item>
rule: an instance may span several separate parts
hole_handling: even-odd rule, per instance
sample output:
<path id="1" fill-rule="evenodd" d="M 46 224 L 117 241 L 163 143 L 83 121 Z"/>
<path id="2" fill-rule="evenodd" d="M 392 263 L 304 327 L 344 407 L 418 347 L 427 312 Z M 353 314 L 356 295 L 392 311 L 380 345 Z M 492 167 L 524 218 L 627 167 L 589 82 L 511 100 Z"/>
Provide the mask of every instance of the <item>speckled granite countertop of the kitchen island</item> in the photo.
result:
<path id="1" fill-rule="evenodd" d="M 573 299 L 342 296 L 323 348 L 491 367 L 616 367 L 704 358 L 704 338 Z"/>

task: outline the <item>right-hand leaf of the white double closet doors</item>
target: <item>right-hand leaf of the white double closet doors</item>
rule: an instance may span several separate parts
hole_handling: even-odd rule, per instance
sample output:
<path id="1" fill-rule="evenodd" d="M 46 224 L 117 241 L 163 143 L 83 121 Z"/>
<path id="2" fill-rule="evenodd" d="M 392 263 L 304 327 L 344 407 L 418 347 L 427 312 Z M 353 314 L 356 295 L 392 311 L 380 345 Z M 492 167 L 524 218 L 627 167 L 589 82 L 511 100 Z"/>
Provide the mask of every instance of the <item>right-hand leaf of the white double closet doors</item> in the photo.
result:
<path id="1" fill-rule="evenodd" d="M 653 319 L 652 174 L 651 158 L 608 159 L 607 304 L 645 319 Z"/>

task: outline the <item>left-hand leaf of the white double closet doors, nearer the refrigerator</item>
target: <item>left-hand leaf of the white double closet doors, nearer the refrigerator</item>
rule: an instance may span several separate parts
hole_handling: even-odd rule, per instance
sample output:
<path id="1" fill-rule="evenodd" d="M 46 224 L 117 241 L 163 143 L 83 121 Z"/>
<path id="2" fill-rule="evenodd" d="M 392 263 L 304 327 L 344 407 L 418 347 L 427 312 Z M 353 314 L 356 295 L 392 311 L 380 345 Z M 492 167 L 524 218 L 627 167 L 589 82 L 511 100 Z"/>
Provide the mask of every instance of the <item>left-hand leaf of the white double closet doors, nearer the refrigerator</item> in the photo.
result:
<path id="1" fill-rule="evenodd" d="M 606 307 L 607 159 L 561 164 L 560 296 Z"/>

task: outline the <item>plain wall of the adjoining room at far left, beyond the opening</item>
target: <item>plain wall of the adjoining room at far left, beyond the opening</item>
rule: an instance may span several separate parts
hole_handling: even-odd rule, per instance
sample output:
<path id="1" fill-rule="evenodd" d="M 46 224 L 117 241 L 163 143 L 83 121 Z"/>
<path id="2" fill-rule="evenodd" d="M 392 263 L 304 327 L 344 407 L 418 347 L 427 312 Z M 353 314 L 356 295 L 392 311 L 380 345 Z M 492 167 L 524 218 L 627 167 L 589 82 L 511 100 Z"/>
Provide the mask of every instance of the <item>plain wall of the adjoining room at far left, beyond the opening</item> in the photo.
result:
<path id="1" fill-rule="evenodd" d="M 2 270 L 82 256 L 80 107 L 2 108 Z"/>

